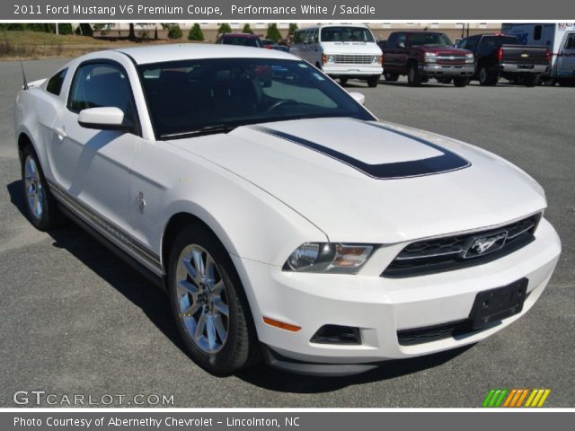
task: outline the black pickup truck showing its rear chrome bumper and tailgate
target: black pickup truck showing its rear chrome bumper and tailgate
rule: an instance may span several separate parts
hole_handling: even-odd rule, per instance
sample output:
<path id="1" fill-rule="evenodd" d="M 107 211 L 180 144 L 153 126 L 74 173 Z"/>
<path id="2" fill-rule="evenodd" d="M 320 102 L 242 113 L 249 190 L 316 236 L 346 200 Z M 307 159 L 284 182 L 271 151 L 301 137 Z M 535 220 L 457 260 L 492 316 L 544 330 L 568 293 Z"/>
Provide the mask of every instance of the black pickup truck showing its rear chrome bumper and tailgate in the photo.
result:
<path id="1" fill-rule="evenodd" d="M 477 34 L 461 40 L 457 47 L 475 56 L 475 75 L 482 85 L 497 84 L 500 77 L 515 84 L 533 86 L 549 67 L 546 47 L 521 45 L 515 36 Z"/>

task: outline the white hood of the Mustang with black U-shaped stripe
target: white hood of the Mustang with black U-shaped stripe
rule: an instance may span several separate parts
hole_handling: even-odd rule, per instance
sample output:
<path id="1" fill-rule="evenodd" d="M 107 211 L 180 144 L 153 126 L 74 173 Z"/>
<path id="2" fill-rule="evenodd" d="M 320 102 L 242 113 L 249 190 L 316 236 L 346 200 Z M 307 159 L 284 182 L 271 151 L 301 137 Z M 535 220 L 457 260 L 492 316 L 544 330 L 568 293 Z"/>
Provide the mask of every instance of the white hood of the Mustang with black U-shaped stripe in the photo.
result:
<path id="1" fill-rule="evenodd" d="M 332 242 L 403 242 L 545 207 L 535 180 L 499 157 L 385 123 L 300 119 L 173 144 L 265 189 Z"/>

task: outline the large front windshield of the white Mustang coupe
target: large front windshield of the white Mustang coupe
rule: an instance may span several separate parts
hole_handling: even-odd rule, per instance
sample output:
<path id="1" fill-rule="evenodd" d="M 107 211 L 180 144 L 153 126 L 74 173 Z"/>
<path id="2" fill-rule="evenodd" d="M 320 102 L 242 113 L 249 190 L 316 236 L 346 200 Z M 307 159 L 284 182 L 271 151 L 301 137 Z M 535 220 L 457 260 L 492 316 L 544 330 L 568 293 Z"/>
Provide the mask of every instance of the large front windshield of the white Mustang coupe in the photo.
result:
<path id="1" fill-rule="evenodd" d="M 158 138 L 283 119 L 374 119 L 338 84 L 302 61 L 213 58 L 138 68 Z"/>

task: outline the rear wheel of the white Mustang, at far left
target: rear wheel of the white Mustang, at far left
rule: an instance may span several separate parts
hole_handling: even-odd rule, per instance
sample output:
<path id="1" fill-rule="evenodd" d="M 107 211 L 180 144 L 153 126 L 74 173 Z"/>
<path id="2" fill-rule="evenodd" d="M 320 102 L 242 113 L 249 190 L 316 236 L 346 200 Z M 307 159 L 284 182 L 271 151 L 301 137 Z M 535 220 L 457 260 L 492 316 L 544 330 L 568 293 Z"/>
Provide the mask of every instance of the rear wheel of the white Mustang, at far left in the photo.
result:
<path id="1" fill-rule="evenodd" d="M 63 216 L 57 207 L 56 199 L 50 193 L 40 161 L 31 144 L 22 150 L 21 167 L 28 219 L 40 231 L 54 229 L 61 224 Z"/>

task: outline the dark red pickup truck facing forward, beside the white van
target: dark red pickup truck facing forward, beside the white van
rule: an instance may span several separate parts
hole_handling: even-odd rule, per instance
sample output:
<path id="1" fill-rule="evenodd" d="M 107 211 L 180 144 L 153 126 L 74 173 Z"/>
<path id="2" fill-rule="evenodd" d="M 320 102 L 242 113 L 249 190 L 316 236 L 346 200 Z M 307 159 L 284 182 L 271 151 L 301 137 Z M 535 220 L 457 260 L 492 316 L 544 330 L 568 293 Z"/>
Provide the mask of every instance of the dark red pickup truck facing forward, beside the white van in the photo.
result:
<path id="1" fill-rule="evenodd" d="M 381 48 L 381 47 L 380 47 Z M 464 87 L 475 71 L 473 53 L 453 48 L 446 34 L 435 31 L 394 31 L 382 48 L 385 81 L 407 75 L 411 86 L 436 78 Z"/>

